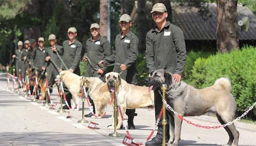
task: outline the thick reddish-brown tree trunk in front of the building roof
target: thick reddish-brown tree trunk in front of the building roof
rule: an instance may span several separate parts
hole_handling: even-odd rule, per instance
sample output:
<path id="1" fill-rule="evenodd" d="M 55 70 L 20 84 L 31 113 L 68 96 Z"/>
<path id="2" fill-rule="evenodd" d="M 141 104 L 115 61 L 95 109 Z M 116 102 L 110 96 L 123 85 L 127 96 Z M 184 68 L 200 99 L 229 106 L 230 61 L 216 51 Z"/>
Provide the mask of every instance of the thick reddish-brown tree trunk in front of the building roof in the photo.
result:
<path id="1" fill-rule="evenodd" d="M 226 53 L 238 47 L 237 0 L 217 0 L 217 50 Z"/>

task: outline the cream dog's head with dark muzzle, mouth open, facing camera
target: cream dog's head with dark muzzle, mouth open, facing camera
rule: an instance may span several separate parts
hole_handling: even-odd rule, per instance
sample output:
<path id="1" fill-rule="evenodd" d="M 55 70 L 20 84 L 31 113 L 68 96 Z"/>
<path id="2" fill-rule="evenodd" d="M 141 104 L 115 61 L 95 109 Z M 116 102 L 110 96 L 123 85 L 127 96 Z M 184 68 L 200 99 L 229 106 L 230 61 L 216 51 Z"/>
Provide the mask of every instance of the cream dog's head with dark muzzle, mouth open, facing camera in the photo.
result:
<path id="1" fill-rule="evenodd" d="M 107 82 L 109 92 L 114 92 L 114 80 L 117 80 L 117 86 L 121 84 L 121 77 L 118 73 L 110 72 L 104 76 L 104 82 Z"/>

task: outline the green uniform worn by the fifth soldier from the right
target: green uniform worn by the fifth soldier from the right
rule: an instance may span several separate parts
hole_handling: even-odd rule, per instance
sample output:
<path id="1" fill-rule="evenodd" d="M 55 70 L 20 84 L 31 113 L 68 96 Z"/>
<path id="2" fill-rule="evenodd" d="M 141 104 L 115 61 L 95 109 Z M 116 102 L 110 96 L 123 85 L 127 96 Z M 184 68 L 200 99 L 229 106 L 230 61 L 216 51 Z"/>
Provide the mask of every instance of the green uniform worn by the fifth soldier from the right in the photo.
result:
<path id="1" fill-rule="evenodd" d="M 60 45 L 56 45 L 55 48 L 57 49 L 58 53 L 60 56 L 63 55 L 64 49 Z M 52 85 L 54 83 L 54 80 L 56 76 L 59 74 L 59 68 L 61 67 L 61 61 L 60 58 L 58 57 L 56 51 L 52 50 L 52 47 L 48 47 L 45 51 L 46 56 L 50 56 L 50 60 L 47 61 L 47 68 L 46 68 L 46 73 L 48 74 L 47 79 L 48 79 L 48 85 L 50 88 L 50 91 L 52 91 Z M 57 65 L 54 66 L 52 61 Z"/>

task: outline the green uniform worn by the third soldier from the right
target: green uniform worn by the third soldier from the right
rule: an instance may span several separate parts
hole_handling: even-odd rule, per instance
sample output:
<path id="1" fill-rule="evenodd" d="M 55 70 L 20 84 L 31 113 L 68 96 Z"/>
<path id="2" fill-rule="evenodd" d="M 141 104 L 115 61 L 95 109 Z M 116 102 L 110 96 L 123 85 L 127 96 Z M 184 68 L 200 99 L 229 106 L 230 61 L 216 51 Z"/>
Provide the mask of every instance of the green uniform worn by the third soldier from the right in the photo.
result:
<path id="1" fill-rule="evenodd" d="M 107 39 L 99 35 L 96 41 L 93 42 L 93 38 L 89 38 L 86 41 L 86 48 L 83 58 L 88 57 L 91 64 L 95 69 L 106 70 L 106 67 L 99 67 L 98 62 L 111 55 L 110 43 Z M 86 68 L 86 77 L 97 77 L 99 74 L 97 70 L 88 63 Z M 105 72 L 103 73 L 105 74 Z M 103 78 L 102 78 L 103 79 Z"/>

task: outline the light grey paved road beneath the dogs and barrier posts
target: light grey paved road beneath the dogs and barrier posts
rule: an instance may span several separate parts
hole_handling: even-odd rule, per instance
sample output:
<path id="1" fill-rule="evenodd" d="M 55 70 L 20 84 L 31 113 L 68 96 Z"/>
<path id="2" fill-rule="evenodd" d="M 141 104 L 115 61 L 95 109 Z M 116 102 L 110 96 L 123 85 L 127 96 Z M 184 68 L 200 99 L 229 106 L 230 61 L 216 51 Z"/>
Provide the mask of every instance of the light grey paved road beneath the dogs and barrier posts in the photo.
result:
<path id="1" fill-rule="evenodd" d="M 67 114 L 58 114 L 59 108 L 50 110 L 43 107 L 42 103 L 31 102 L 29 99 L 15 92 L 4 89 L 6 81 L 0 78 L 0 146 L 120 146 L 123 145 L 123 137 L 108 137 L 113 131 L 106 127 L 111 124 L 108 118 L 112 109 L 107 112 L 103 119 L 85 118 L 98 123 L 99 130 L 87 128 L 88 124 L 78 124 L 82 119 L 82 111 L 70 111 L 71 119 Z M 53 91 L 53 101 L 57 101 L 57 89 Z M 80 103 L 81 104 L 81 103 Z M 82 106 L 80 106 L 82 107 Z M 154 127 L 154 111 L 137 109 L 138 116 L 134 123 L 136 130 L 130 130 L 132 137 L 137 142 L 145 142 Z M 86 106 L 85 113 L 89 113 Z M 194 123 L 205 126 L 217 126 L 217 123 L 203 122 L 187 118 Z M 127 116 L 125 115 L 127 122 Z M 240 132 L 239 145 L 256 145 L 256 132 L 238 129 Z M 118 130 L 125 135 L 125 130 Z M 156 133 L 156 132 L 155 132 Z M 185 122 L 182 124 L 181 146 L 212 146 L 225 145 L 228 135 L 223 128 L 203 129 L 191 126 Z"/>

